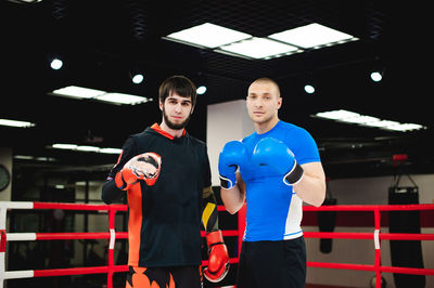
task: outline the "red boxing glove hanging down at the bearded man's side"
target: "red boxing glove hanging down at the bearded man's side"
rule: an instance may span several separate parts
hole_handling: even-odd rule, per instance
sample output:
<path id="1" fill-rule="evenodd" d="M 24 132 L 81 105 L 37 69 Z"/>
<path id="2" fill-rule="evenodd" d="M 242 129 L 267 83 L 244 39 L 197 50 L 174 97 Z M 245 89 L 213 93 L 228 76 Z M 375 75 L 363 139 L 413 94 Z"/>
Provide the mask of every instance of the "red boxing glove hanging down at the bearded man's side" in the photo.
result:
<path id="1" fill-rule="evenodd" d="M 209 249 L 209 259 L 208 266 L 204 269 L 205 278 L 213 283 L 220 282 L 229 271 L 229 254 L 221 231 L 208 233 L 206 244 Z"/>

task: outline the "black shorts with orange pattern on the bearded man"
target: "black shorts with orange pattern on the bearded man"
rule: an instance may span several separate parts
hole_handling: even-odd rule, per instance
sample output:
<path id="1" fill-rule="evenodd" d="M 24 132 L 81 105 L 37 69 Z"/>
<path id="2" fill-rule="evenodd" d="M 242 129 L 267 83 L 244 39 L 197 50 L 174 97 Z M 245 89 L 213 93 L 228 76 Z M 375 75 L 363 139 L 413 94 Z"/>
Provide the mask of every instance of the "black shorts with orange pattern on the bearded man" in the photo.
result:
<path id="1" fill-rule="evenodd" d="M 129 266 L 126 288 L 202 288 L 201 266 Z"/>

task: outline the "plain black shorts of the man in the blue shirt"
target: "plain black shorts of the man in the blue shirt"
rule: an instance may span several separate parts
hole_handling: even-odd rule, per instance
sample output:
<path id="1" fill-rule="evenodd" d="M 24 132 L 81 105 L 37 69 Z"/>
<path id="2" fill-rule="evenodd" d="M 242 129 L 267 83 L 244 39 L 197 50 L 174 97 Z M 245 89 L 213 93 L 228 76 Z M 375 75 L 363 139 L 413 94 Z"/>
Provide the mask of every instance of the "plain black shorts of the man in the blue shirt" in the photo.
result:
<path id="1" fill-rule="evenodd" d="M 281 241 L 243 241 L 237 288 L 304 288 L 304 237 Z"/>

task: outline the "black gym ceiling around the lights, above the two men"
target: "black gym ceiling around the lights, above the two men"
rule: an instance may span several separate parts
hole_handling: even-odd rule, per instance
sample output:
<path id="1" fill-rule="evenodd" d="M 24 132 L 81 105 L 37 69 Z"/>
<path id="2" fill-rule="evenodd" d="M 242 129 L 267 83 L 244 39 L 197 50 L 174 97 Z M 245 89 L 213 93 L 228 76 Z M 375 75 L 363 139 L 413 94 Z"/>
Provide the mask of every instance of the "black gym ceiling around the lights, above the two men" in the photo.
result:
<path id="1" fill-rule="evenodd" d="M 267 76 L 282 91 L 280 118 L 306 128 L 317 140 L 332 176 L 391 171 L 392 155 L 406 153 L 413 172 L 432 172 L 430 154 L 434 117 L 424 49 L 423 12 L 417 1 L 3 1 L 1 21 L 0 118 L 28 120 L 34 128 L 0 128 L 0 146 L 14 154 L 55 157 L 58 167 L 112 163 L 115 156 L 65 153 L 53 143 L 120 147 L 131 133 L 161 120 L 156 102 L 116 106 L 50 95 L 69 84 L 156 99 L 170 75 L 206 84 L 188 130 L 206 140 L 206 105 L 245 97 L 248 83 Z M 392 4 L 391 4 L 392 3 Z M 406 2 L 407 3 L 407 2 Z M 163 40 L 203 23 L 253 36 L 319 23 L 359 41 L 275 60 L 244 60 Z M 427 28 L 425 28 L 427 30 Z M 64 66 L 52 70 L 59 56 Z M 143 70 L 133 84 L 129 73 Z M 372 69 L 384 78 L 373 82 Z M 314 83 L 316 93 L 303 87 Z M 316 119 L 310 115 L 348 109 L 427 127 L 418 132 L 388 132 Z M 24 165 L 24 163 L 21 163 Z M 375 168 L 375 169 L 373 169 Z"/>

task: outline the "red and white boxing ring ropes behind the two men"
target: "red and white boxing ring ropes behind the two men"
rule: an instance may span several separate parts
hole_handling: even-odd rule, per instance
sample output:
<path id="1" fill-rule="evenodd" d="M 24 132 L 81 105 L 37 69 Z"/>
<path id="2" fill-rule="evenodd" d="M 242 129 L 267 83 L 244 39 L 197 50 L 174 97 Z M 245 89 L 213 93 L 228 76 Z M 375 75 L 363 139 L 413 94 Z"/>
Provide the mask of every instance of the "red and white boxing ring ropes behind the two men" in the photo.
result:
<path id="1" fill-rule="evenodd" d="M 107 232 L 67 232 L 67 233 L 8 233 L 7 217 L 8 211 L 12 209 L 27 210 L 75 210 L 75 211 L 99 211 L 107 213 Z M 47 276 L 66 276 L 84 274 L 107 274 L 107 288 L 113 287 L 113 274 L 127 272 L 128 266 L 115 265 L 114 248 L 116 239 L 128 238 L 127 232 L 115 231 L 115 215 L 118 211 L 127 211 L 126 205 L 86 205 L 86 204 L 65 204 L 65 202 L 31 202 L 31 201 L 0 201 L 0 288 L 3 287 L 5 279 L 47 277 Z M 304 211 L 363 211 L 374 214 L 374 227 L 372 233 L 343 233 L 343 232 L 304 232 L 306 238 L 334 238 L 334 239 L 368 239 L 373 241 L 375 258 L 373 264 L 350 264 L 350 263 L 327 263 L 327 262 L 307 262 L 307 266 L 339 270 L 359 270 L 371 271 L 375 273 L 376 288 L 381 287 L 381 273 L 400 273 L 417 275 L 434 275 L 434 269 L 414 269 L 384 266 L 381 264 L 381 240 L 434 240 L 434 234 L 408 234 L 408 233 L 383 233 L 381 232 L 381 212 L 385 211 L 422 211 L 434 210 L 433 205 L 340 205 L 304 207 Z M 218 211 L 225 211 L 224 206 L 218 206 Z M 238 230 L 222 231 L 224 237 L 238 237 L 239 249 L 242 243 L 242 236 L 245 228 L 245 206 L 238 213 Z M 205 232 L 201 232 L 202 237 Z M 8 241 L 29 241 L 29 240 L 72 240 L 72 239 L 108 239 L 107 265 L 69 267 L 69 269 L 50 269 L 50 270 L 23 270 L 5 271 L 5 253 Z M 238 257 L 230 258 L 230 263 L 238 263 Z M 204 266 L 207 261 L 203 261 Z"/>

